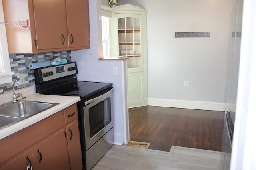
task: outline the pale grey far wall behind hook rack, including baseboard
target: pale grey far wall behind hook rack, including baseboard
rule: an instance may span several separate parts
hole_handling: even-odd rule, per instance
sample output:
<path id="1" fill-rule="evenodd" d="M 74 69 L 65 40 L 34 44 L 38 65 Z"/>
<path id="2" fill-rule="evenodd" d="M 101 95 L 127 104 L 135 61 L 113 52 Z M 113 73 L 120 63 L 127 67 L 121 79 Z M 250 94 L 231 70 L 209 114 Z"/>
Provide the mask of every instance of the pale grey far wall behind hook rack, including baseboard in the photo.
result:
<path id="1" fill-rule="evenodd" d="M 224 110 L 232 0 L 158 2 L 121 1 L 148 11 L 148 104 Z M 174 38 L 174 32 L 211 37 Z"/>

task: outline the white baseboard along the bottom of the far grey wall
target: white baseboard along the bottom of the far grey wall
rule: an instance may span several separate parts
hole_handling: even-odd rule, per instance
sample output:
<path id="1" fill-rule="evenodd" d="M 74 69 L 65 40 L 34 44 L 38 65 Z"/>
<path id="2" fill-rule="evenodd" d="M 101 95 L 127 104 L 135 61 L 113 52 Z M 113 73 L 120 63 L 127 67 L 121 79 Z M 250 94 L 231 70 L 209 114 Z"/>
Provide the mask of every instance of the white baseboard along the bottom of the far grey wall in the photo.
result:
<path id="1" fill-rule="evenodd" d="M 148 98 L 149 106 L 225 111 L 226 103 Z"/>

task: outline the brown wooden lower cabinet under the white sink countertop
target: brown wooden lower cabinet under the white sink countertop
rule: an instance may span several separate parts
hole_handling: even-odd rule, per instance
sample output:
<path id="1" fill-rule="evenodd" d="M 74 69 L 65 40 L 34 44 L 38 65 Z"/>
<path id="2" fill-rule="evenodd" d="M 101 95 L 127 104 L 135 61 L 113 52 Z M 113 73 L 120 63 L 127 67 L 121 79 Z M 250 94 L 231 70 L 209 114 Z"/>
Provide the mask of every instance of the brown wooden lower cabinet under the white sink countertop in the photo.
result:
<path id="1" fill-rule="evenodd" d="M 67 124 L 64 123 L 66 119 L 65 111 L 76 114 L 74 117 L 71 116 L 72 118 L 68 117 L 70 121 Z M 40 127 L 42 134 L 44 134 L 44 129 L 49 131 L 49 128 L 46 128 L 45 125 L 48 125 L 49 121 L 52 123 L 52 119 L 55 119 L 56 124 L 62 124 L 63 126 L 57 126 L 57 129 L 56 127 L 52 128 L 50 134 L 36 140 L 35 138 L 40 135 L 31 133 L 33 132 L 31 130 Z M 23 148 L 15 149 L 20 142 L 30 141 L 30 138 L 33 138 L 33 141 L 36 142 L 28 147 L 21 144 L 20 146 L 23 146 Z M 9 141 L 15 142 L 10 144 Z M 16 146 L 13 147 L 13 144 Z M 82 152 L 76 105 L 72 105 L 35 125 L 0 140 L 0 150 L 1 154 L 5 154 L 4 152 L 8 152 L 8 150 L 12 153 L 1 157 L 0 170 L 25 170 L 29 166 L 32 166 L 33 170 L 82 170 Z M 20 150 L 22 151 L 20 152 Z"/>

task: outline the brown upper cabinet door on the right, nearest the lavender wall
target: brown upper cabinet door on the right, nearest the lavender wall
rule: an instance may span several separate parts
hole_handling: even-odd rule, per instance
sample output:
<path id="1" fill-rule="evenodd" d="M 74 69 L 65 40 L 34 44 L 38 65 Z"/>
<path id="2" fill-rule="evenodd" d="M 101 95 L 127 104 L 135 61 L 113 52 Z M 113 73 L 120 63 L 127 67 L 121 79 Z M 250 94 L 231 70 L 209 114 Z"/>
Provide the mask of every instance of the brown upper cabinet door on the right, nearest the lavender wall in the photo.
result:
<path id="1" fill-rule="evenodd" d="M 67 0 L 68 47 L 90 48 L 88 0 Z"/>

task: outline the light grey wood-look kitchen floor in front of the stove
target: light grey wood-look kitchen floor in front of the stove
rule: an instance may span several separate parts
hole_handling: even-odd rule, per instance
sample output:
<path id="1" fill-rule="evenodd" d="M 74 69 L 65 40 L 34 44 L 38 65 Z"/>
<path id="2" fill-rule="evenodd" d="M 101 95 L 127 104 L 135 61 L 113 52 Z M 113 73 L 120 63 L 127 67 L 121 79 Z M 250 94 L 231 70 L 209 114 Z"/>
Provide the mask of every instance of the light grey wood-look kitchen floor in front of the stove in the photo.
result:
<path id="1" fill-rule="evenodd" d="M 220 170 L 221 152 L 172 146 L 170 152 L 114 145 L 92 170 Z"/>

